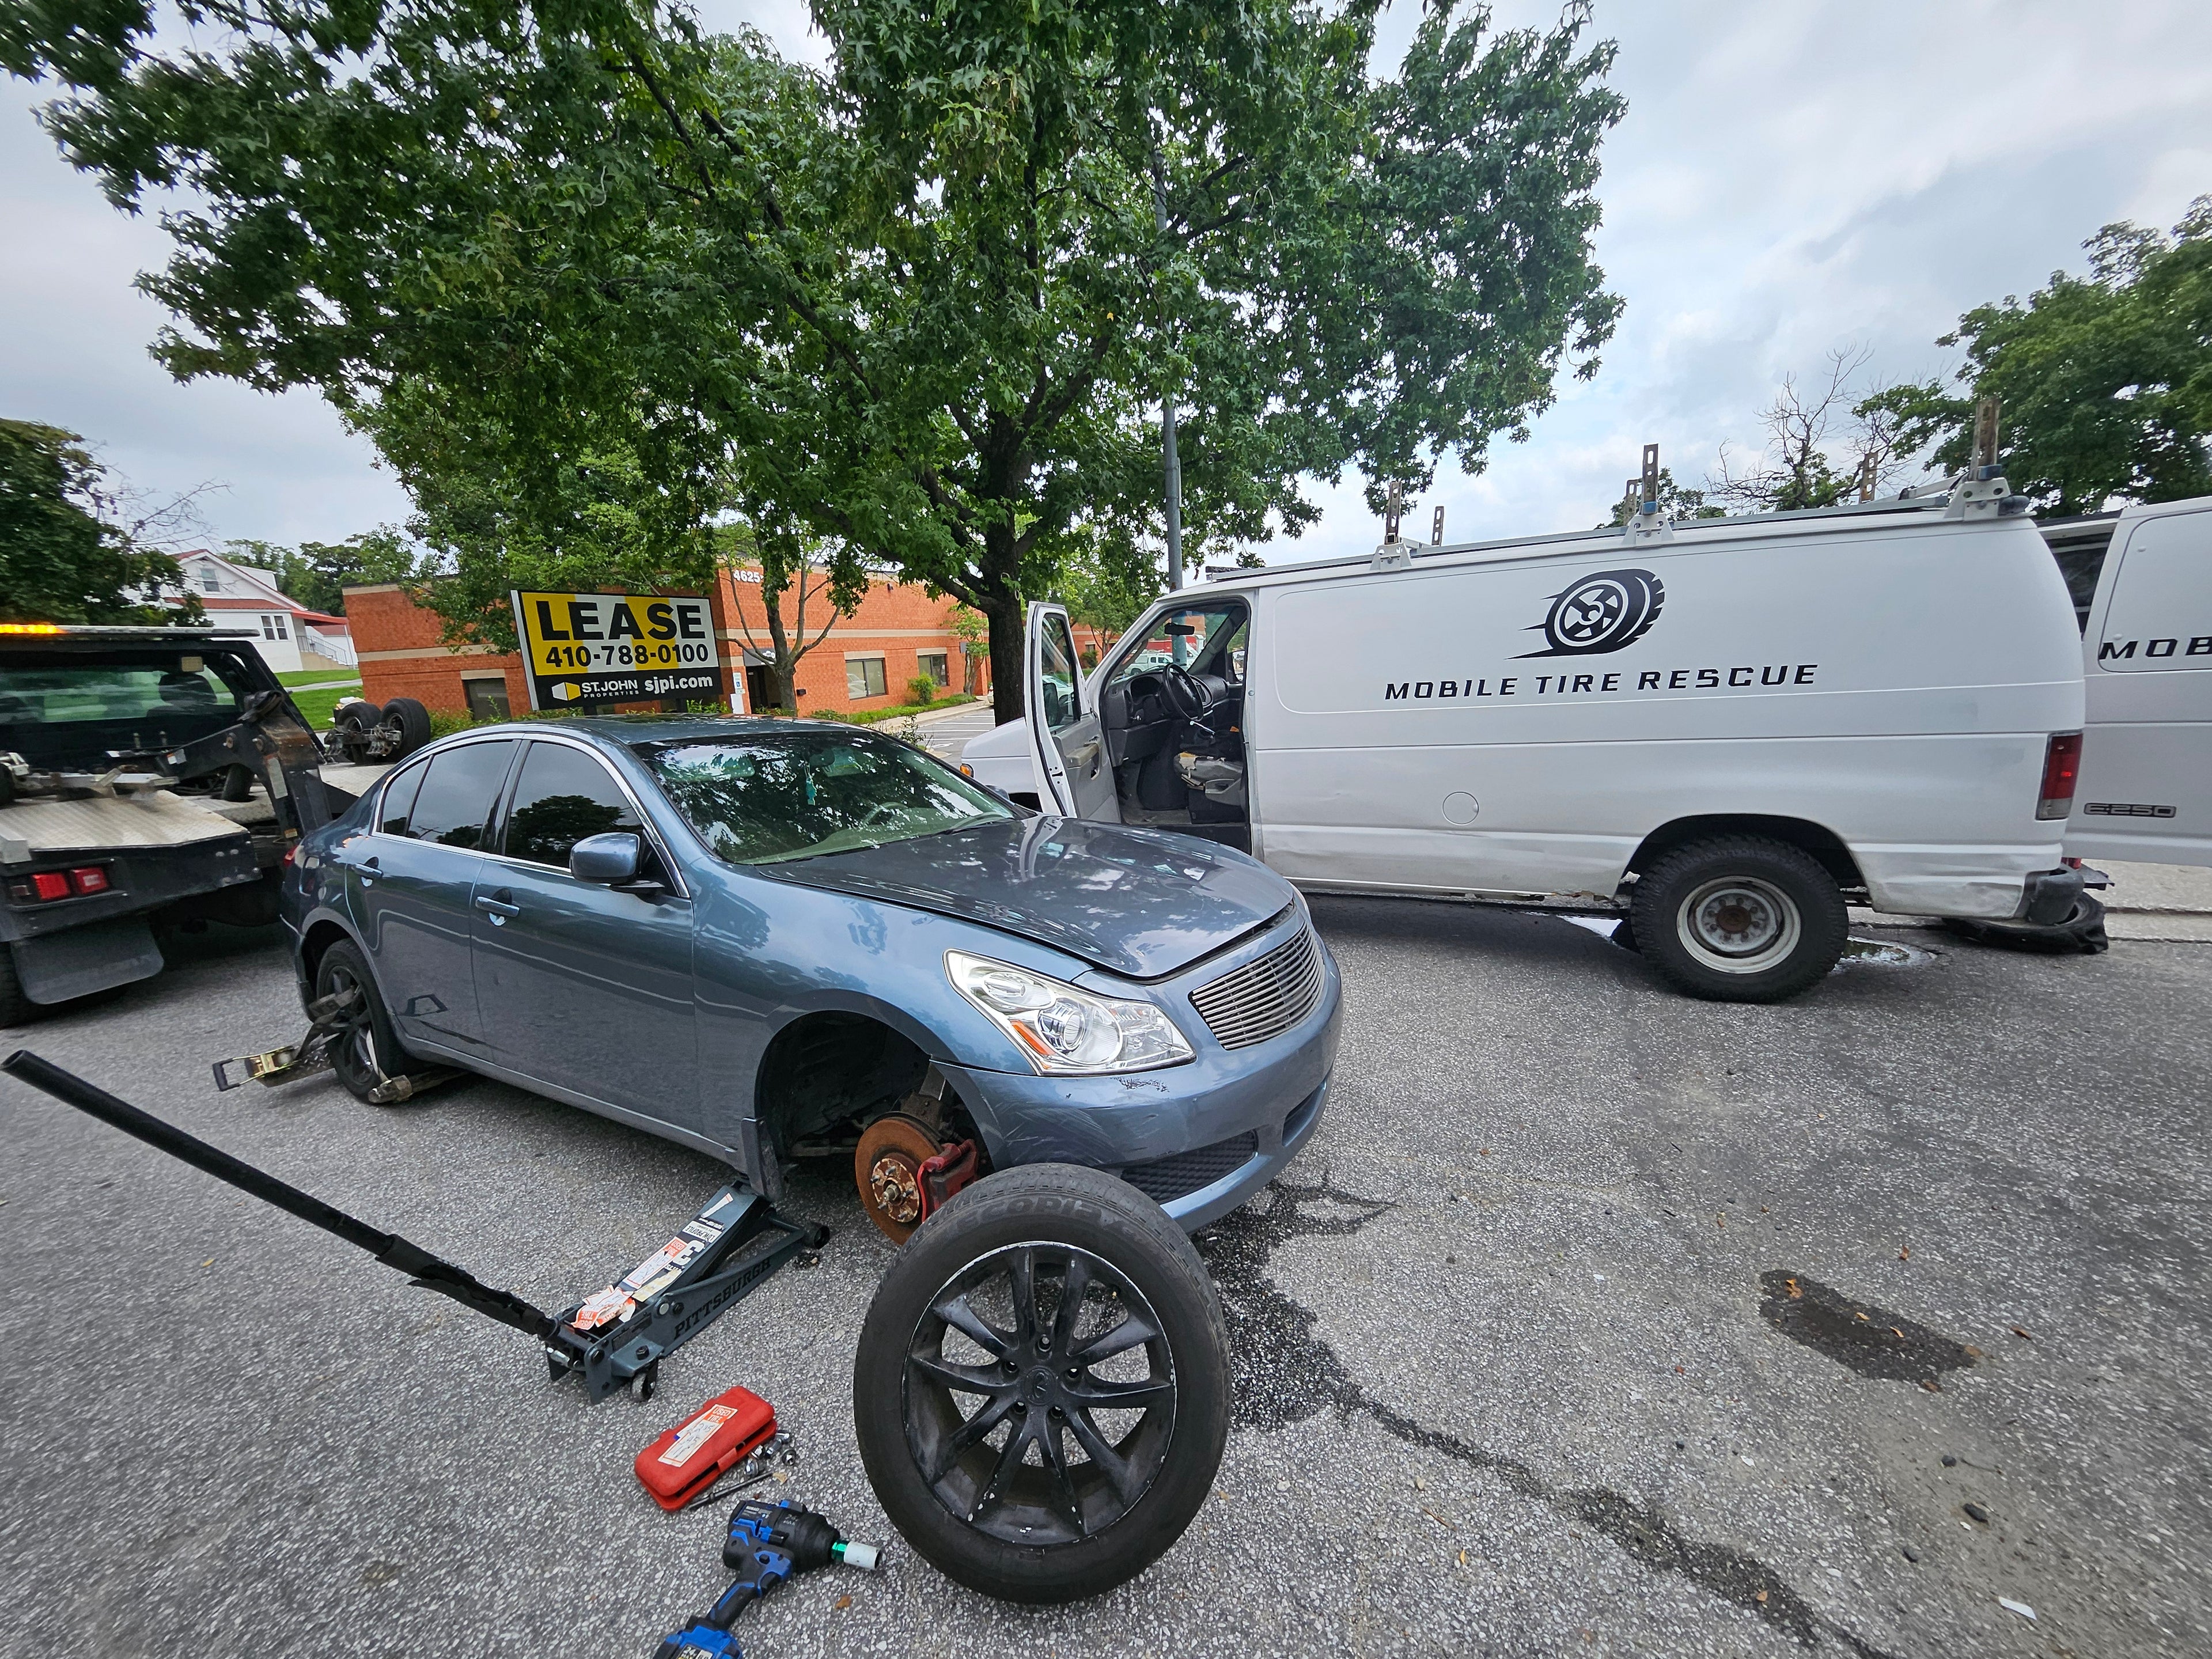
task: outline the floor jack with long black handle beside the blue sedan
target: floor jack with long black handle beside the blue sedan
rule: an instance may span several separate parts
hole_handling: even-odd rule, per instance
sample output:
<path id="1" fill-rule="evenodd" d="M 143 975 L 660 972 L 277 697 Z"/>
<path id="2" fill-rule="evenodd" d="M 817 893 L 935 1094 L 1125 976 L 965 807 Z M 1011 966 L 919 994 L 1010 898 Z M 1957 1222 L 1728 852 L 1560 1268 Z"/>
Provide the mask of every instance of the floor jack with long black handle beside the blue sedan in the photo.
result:
<path id="1" fill-rule="evenodd" d="M 385 1267 L 407 1274 L 409 1283 L 422 1290 L 436 1290 L 462 1307 L 473 1307 L 487 1318 L 538 1338 L 551 1378 L 557 1383 L 571 1374 L 582 1376 L 584 1394 L 591 1400 L 604 1400 L 622 1387 L 628 1387 L 639 1400 L 650 1400 L 664 1358 L 759 1290 L 785 1261 L 803 1250 L 818 1250 L 830 1239 L 827 1228 L 803 1225 L 776 1214 L 759 1192 L 726 1186 L 684 1223 L 675 1239 L 646 1256 L 633 1272 L 555 1318 L 515 1292 L 493 1290 L 465 1267 L 279 1181 L 268 1170 L 257 1170 L 177 1126 L 142 1113 L 131 1102 L 95 1088 L 27 1048 L 18 1048 L 0 1062 L 0 1071 L 111 1128 L 119 1128 L 124 1135 L 135 1135 L 217 1181 L 228 1181 L 241 1192 L 345 1239 L 356 1250 L 367 1250 Z"/>

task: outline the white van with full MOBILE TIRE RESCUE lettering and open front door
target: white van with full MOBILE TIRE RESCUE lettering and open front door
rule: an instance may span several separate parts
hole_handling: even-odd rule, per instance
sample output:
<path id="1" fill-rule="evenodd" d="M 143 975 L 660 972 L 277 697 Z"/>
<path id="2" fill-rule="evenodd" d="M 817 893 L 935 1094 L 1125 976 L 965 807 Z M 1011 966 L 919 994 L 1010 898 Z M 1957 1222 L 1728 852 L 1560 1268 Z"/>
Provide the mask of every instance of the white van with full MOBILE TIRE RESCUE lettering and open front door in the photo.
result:
<path id="1" fill-rule="evenodd" d="M 1845 900 L 2044 925 L 2081 896 L 2081 639 L 2024 504 L 1394 542 L 1172 593 L 1088 677 L 1040 604 L 1029 721 L 962 759 L 1305 887 L 1626 911 L 1681 989 L 1776 1000 L 1836 962 Z"/>

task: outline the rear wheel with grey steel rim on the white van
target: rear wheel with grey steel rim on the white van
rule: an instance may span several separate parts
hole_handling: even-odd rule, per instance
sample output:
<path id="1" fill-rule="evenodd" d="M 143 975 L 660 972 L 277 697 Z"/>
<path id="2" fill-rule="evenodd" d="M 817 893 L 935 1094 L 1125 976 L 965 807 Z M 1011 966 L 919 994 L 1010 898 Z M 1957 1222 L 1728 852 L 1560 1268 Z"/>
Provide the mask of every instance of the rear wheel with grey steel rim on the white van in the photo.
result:
<path id="1" fill-rule="evenodd" d="M 1637 949 L 1677 989 L 1712 1002 L 1781 1002 L 1843 956 L 1836 878 L 1765 836 L 1677 847 L 1644 872 L 1630 905 Z"/>

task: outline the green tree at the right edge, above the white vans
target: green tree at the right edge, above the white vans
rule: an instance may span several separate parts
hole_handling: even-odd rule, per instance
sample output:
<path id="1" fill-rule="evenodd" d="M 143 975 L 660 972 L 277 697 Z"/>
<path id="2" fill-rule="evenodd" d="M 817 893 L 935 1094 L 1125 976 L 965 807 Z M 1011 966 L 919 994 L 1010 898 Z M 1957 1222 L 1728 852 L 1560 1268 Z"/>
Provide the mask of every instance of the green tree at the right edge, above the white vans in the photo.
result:
<path id="1" fill-rule="evenodd" d="M 1978 305 L 1938 341 L 1966 347 L 1964 392 L 1900 385 L 1860 414 L 1887 416 L 1907 451 L 1960 471 L 1975 403 L 1997 398 L 1997 465 L 2037 513 L 2212 493 L 2212 197 L 2172 237 L 2112 223 L 2084 248 L 2088 276 L 2053 272 L 2026 303 Z"/>

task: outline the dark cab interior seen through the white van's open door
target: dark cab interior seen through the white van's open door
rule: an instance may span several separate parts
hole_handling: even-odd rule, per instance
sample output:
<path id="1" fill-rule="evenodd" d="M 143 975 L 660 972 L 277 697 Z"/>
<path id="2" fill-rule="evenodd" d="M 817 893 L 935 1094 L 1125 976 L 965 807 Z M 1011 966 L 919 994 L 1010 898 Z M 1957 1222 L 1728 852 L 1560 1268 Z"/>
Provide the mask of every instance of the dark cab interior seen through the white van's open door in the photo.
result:
<path id="1" fill-rule="evenodd" d="M 1121 823 L 1183 830 L 1252 849 L 1243 695 L 1250 611 L 1192 599 L 1124 639 L 1099 692 Z"/>

